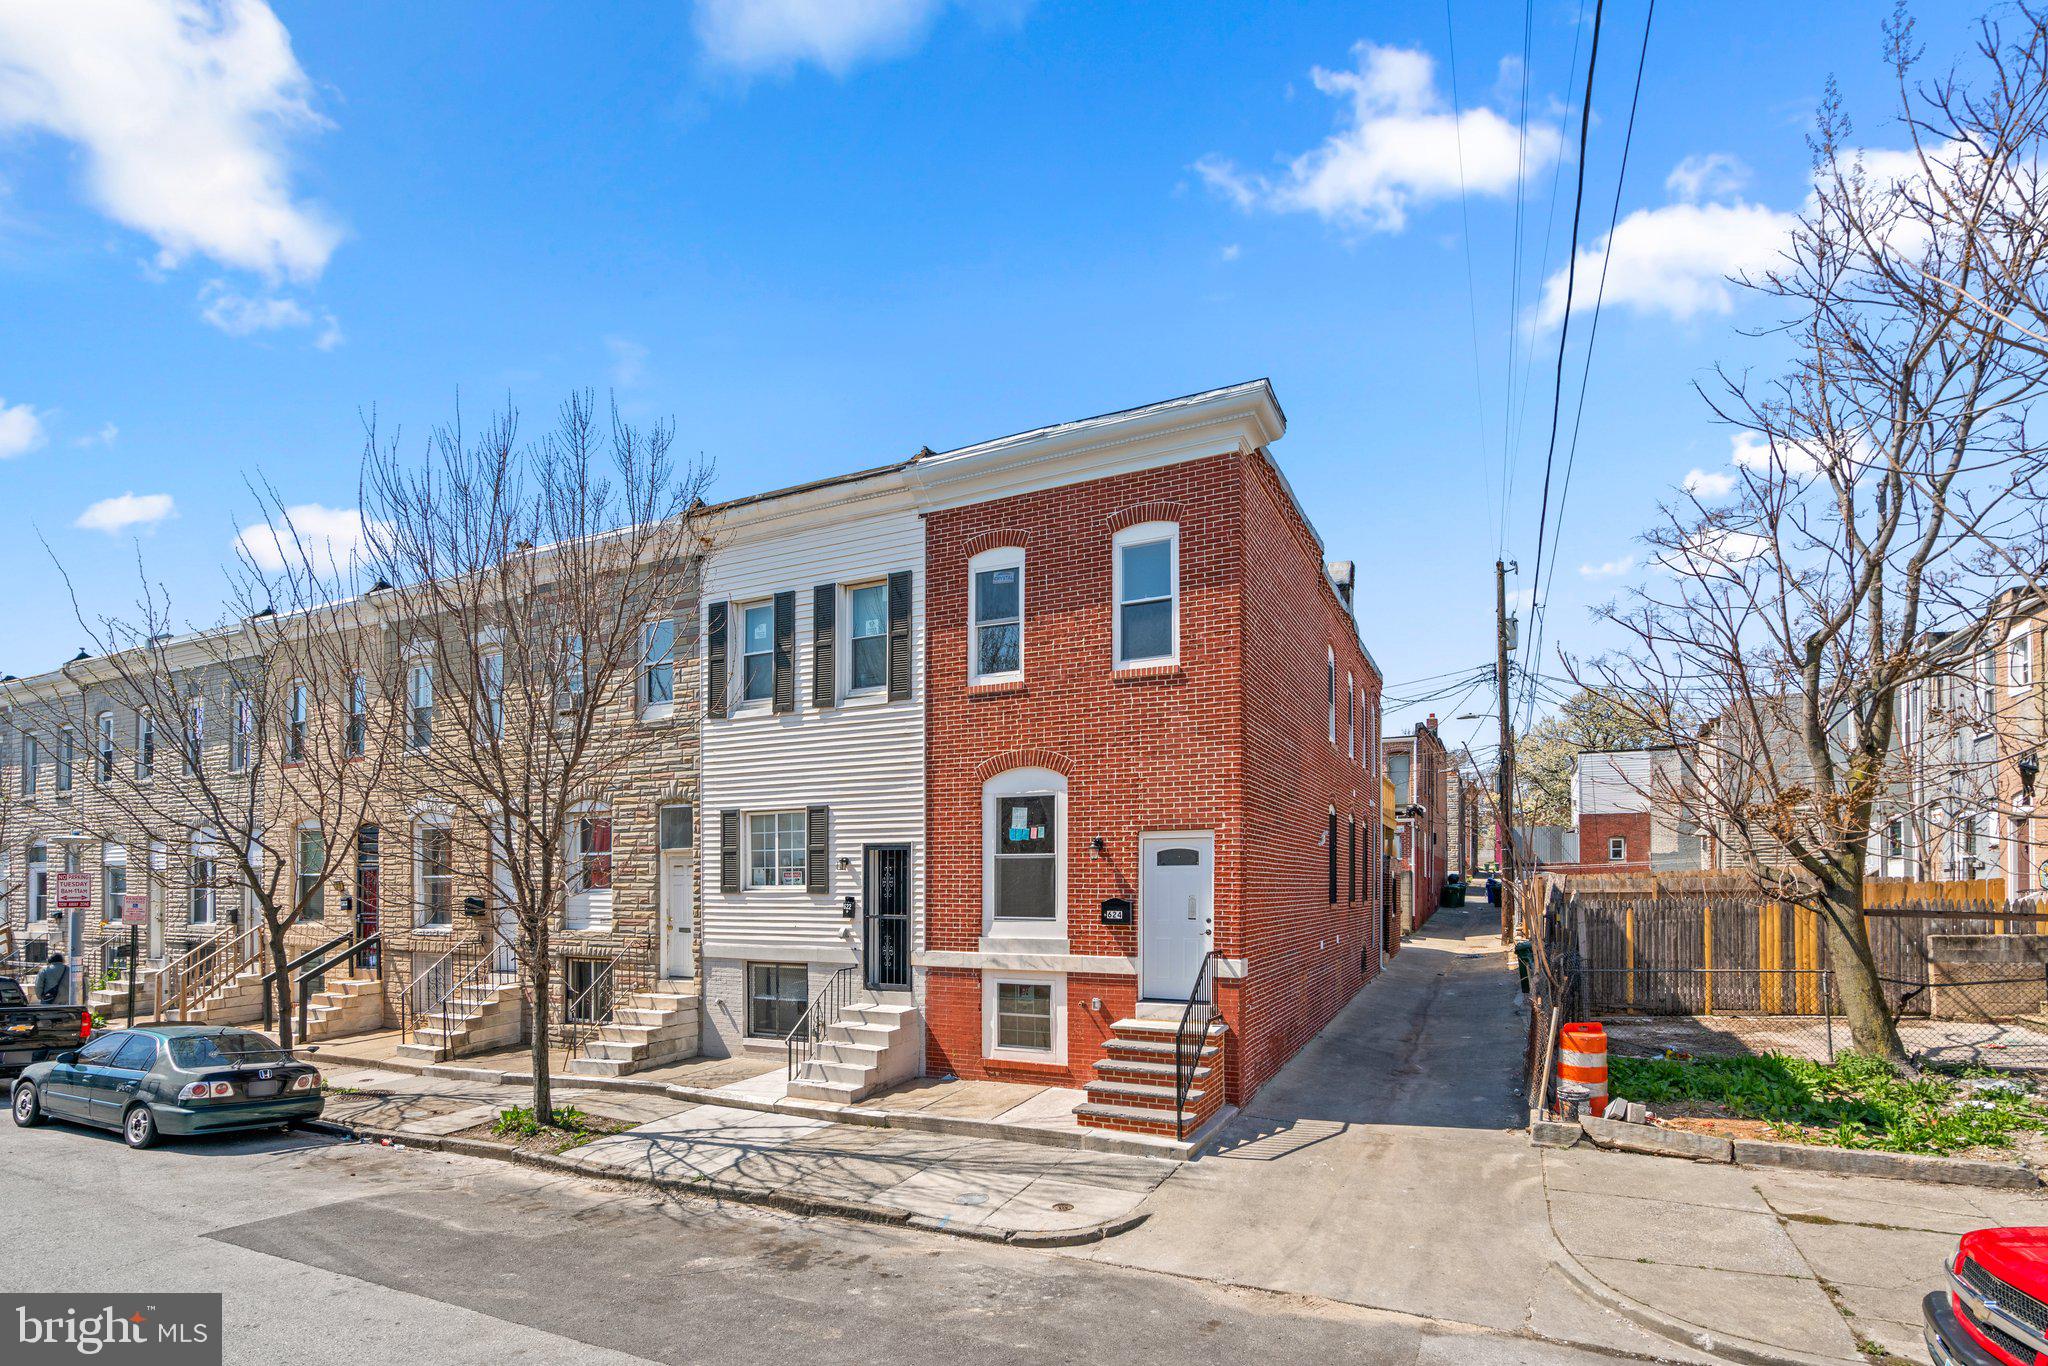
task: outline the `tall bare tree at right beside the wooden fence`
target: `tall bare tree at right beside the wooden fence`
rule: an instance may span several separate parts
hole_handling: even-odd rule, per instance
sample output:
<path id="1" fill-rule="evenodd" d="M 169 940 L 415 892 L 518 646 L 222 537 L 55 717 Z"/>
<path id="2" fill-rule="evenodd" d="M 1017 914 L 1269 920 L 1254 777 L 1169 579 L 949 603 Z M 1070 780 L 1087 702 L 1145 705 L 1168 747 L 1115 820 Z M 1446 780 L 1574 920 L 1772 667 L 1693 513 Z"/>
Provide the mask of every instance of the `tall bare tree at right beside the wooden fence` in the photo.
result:
<path id="1" fill-rule="evenodd" d="M 1653 573 L 1610 608 L 1632 643 L 1587 674 L 1698 756 L 1686 801 L 1759 889 L 1812 907 L 1855 1047 L 1905 1061 L 1864 924 L 1874 821 L 1903 772 L 1903 690 L 1995 631 L 2042 563 L 2048 354 L 2017 328 L 2048 264 L 2048 27 L 1985 23 L 1968 78 L 1919 80 L 1886 25 L 1903 154 L 1860 152 L 1833 84 L 1815 193 L 1784 260 L 1745 281 L 1790 354 L 1720 373 L 1749 432 L 1735 494 L 1686 496 L 1645 541 Z M 1677 721 L 1694 717 L 1694 733 Z"/>

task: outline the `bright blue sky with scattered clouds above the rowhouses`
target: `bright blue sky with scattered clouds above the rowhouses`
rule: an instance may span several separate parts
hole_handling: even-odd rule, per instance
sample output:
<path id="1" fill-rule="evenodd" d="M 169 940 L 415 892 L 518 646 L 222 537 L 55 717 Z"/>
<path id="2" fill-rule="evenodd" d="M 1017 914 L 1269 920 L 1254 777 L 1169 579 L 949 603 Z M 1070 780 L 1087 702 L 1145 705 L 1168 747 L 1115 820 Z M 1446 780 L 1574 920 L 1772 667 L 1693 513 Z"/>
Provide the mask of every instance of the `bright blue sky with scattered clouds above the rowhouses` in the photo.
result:
<path id="1" fill-rule="evenodd" d="M 1692 385 L 1772 356 L 1722 274 L 1782 240 L 1831 74 L 1898 143 L 1886 8 L 1659 8 L 1552 647 L 1599 647 L 1587 606 L 1640 573 L 1657 502 L 1729 471 Z M 88 610 L 133 600 L 139 549 L 195 621 L 246 473 L 346 539 L 371 405 L 539 424 L 614 387 L 735 496 L 1257 375 L 1389 680 L 1483 664 L 1503 444 L 1505 549 L 1534 557 L 1589 12 L 1536 4 L 1524 143 L 1505 2 L 1452 0 L 1456 104 L 1434 4 L 8 6 L 0 670 L 80 643 L 39 535 Z M 1933 55 L 1962 18 L 1923 18 Z M 1608 6 L 1587 272 L 1640 33 Z"/>

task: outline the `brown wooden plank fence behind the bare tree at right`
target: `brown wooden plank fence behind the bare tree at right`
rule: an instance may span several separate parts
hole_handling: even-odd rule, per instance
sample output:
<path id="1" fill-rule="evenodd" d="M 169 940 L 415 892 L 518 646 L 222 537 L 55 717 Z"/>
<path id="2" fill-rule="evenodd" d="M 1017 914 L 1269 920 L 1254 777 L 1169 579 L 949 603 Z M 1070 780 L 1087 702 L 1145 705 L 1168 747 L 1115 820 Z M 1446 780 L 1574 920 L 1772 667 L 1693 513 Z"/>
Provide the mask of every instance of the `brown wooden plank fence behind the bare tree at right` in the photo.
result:
<path id="1" fill-rule="evenodd" d="M 1622 881 L 1622 879 L 1614 879 Z M 1726 885 L 1722 885 L 1726 887 Z M 1927 1014 L 1929 936 L 2048 934 L 2048 915 L 2003 899 L 1999 881 L 1872 883 L 1864 924 L 1892 1008 Z M 1552 883 L 1544 934 L 1573 963 L 1591 1012 L 1831 1014 L 1821 917 L 1753 893 Z"/>

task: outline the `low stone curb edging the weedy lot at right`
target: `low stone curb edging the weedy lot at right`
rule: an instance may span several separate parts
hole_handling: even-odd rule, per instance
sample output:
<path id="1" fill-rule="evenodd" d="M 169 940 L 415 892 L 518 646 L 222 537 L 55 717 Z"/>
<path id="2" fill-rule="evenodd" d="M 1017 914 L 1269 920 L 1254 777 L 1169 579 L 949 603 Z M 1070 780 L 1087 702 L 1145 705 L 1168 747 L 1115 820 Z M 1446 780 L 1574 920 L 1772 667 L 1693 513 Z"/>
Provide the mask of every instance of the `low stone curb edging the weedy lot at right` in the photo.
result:
<path id="1" fill-rule="evenodd" d="M 2017 1161 L 1980 1157 L 1923 1157 L 1874 1149 L 1823 1147 L 1815 1143 L 1763 1143 L 1759 1139 L 1714 1139 L 1683 1128 L 1630 1124 L 1626 1120 L 1548 1120 L 1532 1116 L 1530 1143 L 1573 1147 L 1585 1137 L 1595 1149 L 1677 1157 L 1683 1161 L 1731 1163 L 1737 1167 L 1780 1167 L 1823 1176 L 1874 1176 L 1890 1182 L 1931 1186 L 1974 1186 L 1980 1190 L 2040 1190 L 2042 1178 Z"/>

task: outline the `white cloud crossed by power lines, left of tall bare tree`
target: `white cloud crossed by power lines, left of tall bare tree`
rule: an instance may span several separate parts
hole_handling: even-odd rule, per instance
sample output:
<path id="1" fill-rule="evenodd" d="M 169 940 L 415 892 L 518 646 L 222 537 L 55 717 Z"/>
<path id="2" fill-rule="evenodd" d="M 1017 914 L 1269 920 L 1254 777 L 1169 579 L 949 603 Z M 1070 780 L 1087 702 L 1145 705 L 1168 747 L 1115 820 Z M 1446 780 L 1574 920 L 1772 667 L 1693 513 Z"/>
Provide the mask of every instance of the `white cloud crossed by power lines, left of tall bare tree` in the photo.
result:
<path id="1" fill-rule="evenodd" d="M 1573 307 L 1591 307 L 1606 264 L 1604 307 L 1667 313 L 1679 322 L 1731 313 L 1735 287 L 1729 279 L 1776 264 L 1796 225 L 1798 215 L 1741 201 L 1636 209 L 1610 236 L 1579 248 L 1579 297 Z M 1563 268 L 1544 281 L 1538 324 L 1548 328 L 1565 317 L 1565 281 Z"/>

